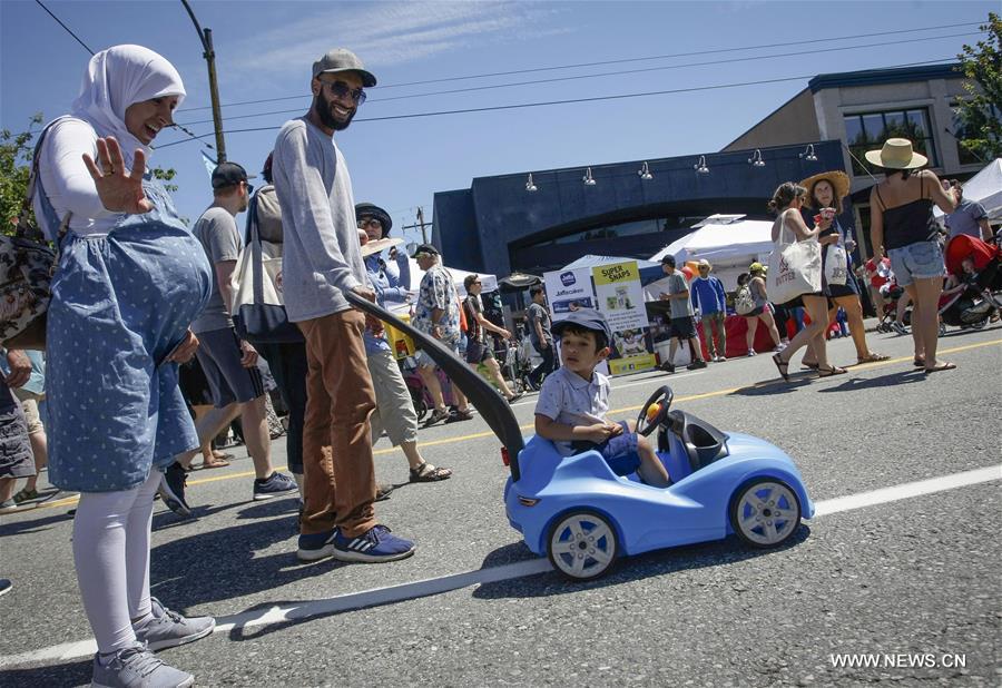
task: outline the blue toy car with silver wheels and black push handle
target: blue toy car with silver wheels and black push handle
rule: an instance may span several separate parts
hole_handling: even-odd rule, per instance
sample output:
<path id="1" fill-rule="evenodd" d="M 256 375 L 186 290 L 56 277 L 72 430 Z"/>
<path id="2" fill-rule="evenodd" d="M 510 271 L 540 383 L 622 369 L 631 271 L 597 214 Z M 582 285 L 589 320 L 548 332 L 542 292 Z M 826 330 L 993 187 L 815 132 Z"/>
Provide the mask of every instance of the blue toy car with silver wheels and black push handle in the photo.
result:
<path id="1" fill-rule="evenodd" d="M 504 486 L 508 520 L 537 554 L 573 579 L 609 570 L 620 556 L 721 540 L 735 533 L 752 547 L 778 547 L 814 515 L 796 465 L 777 446 L 725 434 L 685 411 L 670 410 L 671 389 L 651 394 L 637 432 L 658 431 L 658 455 L 672 484 L 654 488 L 636 474 L 616 475 L 596 451 L 561 456 L 548 440 L 524 444 L 504 399 L 438 340 L 354 293 L 360 309 L 410 334 L 477 406 L 503 444 L 511 466 Z"/>

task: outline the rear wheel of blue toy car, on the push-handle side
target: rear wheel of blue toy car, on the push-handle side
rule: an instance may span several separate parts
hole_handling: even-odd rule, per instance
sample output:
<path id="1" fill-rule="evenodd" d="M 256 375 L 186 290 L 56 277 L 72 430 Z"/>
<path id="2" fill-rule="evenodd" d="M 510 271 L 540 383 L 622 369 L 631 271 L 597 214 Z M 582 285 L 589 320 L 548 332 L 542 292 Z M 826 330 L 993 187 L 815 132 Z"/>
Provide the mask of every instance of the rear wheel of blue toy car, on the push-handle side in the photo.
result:
<path id="1" fill-rule="evenodd" d="M 553 568 L 577 580 L 601 576 L 619 552 L 616 528 L 606 517 L 587 510 L 562 515 L 550 529 L 548 544 Z"/>

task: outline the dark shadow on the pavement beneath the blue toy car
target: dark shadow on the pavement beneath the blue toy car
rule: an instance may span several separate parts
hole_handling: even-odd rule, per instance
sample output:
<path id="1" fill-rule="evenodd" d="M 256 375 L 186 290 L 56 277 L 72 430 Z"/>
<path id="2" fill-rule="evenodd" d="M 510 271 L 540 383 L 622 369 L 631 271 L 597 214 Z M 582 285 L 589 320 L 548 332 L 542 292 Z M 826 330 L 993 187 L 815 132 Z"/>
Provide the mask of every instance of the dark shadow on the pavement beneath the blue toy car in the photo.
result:
<path id="1" fill-rule="evenodd" d="M 548 571 L 538 576 L 484 583 L 473 591 L 473 597 L 482 600 L 550 597 L 618 586 L 678 571 L 727 566 L 782 552 L 800 544 L 809 534 L 811 528 L 802 523 L 786 543 L 773 549 L 752 549 L 743 546 L 736 537 L 731 535 L 726 540 L 657 550 L 637 557 L 623 557 L 616 562 L 610 573 L 592 581 L 572 581 L 557 571 Z M 528 550 L 525 551 L 528 552 Z M 488 560 L 492 556 L 493 552 L 488 556 Z"/>

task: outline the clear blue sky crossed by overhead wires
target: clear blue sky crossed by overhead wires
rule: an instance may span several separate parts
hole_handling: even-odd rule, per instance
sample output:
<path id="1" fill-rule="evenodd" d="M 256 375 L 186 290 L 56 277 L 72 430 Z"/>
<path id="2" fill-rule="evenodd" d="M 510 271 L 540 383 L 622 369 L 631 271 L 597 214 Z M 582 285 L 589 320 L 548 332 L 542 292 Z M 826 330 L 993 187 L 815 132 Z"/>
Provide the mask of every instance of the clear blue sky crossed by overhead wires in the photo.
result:
<path id="1" fill-rule="evenodd" d="M 188 98 L 179 122 L 210 132 L 208 78 L 195 29 L 179 1 L 45 4 L 94 50 L 118 43 L 147 46 L 178 68 Z M 213 29 L 223 104 L 293 96 L 277 102 L 224 108 L 225 127 L 278 127 L 310 104 L 311 65 L 334 47 L 354 50 L 384 87 L 350 129 L 338 135 L 357 200 L 390 210 L 394 225 L 411 224 L 419 205 L 431 220 L 435 191 L 468 188 L 474 177 L 600 165 L 619 160 L 709 154 L 806 86 L 780 83 L 660 95 L 577 105 L 361 121 L 393 115 L 659 91 L 916 62 L 949 61 L 973 43 L 976 24 L 998 1 L 956 2 L 255 2 L 191 0 Z M 970 22 L 964 28 L 946 24 Z M 32 112 L 66 112 L 89 58 L 33 0 L 0 1 L 0 125 L 23 130 Z M 825 40 L 898 29 L 935 30 Z M 963 37 L 935 38 L 965 33 Z M 740 52 L 711 50 L 800 41 L 812 45 Z M 847 46 L 853 50 L 807 53 Z M 805 55 L 753 59 L 779 52 Z M 507 77 L 391 85 L 581 62 L 685 53 L 687 57 L 540 71 Z M 635 73 L 599 72 L 718 65 Z M 591 75 L 591 76 L 589 76 Z M 460 94 L 432 91 L 559 77 L 587 78 Z M 392 99 L 391 99 L 392 98 Z M 246 119 L 235 117 L 293 110 Z M 230 134 L 227 156 L 259 170 L 275 131 Z M 180 140 L 164 131 L 158 144 Z M 205 139 L 212 142 L 212 137 Z M 194 219 L 210 203 L 202 146 L 155 151 L 153 163 L 177 169 L 176 202 Z M 212 151 L 207 151 L 210 153 Z M 459 266 L 462 267 L 462 266 Z"/>

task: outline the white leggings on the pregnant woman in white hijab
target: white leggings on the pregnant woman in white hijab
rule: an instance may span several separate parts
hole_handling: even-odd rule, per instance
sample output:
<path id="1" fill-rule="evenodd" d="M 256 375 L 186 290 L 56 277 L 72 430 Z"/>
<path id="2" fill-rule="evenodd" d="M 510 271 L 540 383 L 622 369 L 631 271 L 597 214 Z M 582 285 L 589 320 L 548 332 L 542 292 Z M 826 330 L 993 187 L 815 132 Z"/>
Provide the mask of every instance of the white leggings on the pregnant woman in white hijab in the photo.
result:
<path id="1" fill-rule="evenodd" d="M 160 472 L 120 492 L 84 492 L 73 519 L 73 563 L 98 651 L 136 643 L 132 619 L 149 613 L 149 530 Z"/>

